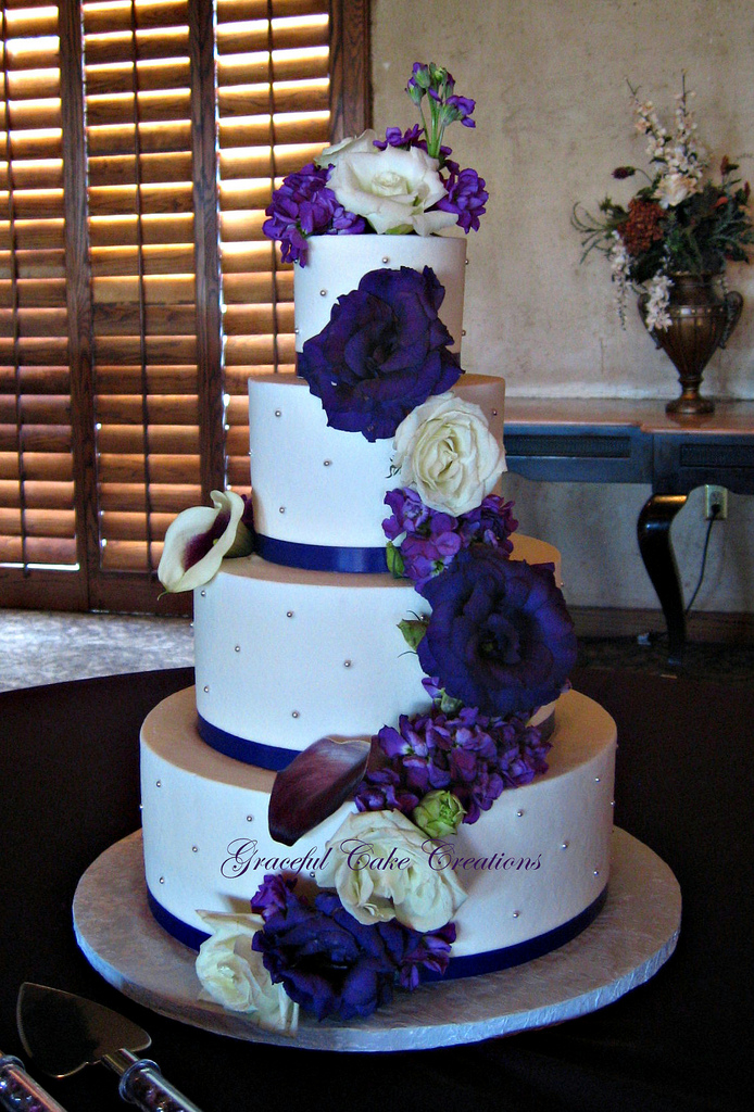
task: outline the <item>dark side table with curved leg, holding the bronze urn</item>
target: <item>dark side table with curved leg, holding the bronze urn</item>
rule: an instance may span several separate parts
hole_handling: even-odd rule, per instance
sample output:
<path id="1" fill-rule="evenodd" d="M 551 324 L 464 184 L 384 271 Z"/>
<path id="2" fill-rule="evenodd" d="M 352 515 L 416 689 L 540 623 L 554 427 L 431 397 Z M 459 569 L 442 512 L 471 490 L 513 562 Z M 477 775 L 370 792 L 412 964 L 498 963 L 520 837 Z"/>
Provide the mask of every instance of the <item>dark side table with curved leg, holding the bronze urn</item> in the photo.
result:
<path id="1" fill-rule="evenodd" d="M 508 468 L 550 483 L 644 483 L 636 524 L 644 566 L 679 665 L 686 620 L 671 543 L 673 518 L 706 484 L 754 494 L 754 401 L 720 401 L 705 417 L 669 417 L 655 399 L 506 398 Z"/>

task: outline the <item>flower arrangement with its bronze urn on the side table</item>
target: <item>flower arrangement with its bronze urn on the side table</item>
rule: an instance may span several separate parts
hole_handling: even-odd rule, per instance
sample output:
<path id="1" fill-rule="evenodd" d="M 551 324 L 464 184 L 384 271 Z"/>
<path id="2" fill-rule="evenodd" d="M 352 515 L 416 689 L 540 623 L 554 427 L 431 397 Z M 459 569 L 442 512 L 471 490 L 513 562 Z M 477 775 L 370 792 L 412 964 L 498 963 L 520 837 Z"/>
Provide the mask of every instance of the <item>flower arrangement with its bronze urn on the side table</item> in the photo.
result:
<path id="1" fill-rule="evenodd" d="M 647 137 L 652 173 L 617 167 L 616 180 L 642 173 L 644 185 L 627 205 L 605 197 L 597 216 L 577 203 L 572 224 L 582 236 L 582 261 L 593 250 L 607 257 L 622 324 L 631 287 L 639 295 L 639 314 L 655 346 L 678 370 L 682 394 L 667 411 L 711 413 L 713 403 L 698 390 L 706 364 L 725 346 L 741 316 L 743 298 L 726 289 L 724 276 L 728 261 L 748 262 L 754 242 L 750 186 L 742 185 L 738 167 L 727 157 L 720 163 L 720 180 L 707 175 L 685 77 L 672 130 L 652 101 L 639 101 L 629 89 L 636 130 Z"/>

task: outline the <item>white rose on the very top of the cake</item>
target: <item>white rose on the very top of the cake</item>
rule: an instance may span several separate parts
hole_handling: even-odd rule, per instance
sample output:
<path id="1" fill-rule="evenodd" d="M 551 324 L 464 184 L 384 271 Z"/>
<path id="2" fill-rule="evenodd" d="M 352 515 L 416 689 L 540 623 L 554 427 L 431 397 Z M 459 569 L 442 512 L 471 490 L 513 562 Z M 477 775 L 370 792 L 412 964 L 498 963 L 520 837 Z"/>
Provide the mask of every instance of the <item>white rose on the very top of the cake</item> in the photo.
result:
<path id="1" fill-rule="evenodd" d="M 328 187 L 349 212 L 366 217 L 375 231 L 431 236 L 456 224 L 455 212 L 427 212 L 445 197 L 437 159 L 418 147 L 347 151 L 336 162 Z"/>

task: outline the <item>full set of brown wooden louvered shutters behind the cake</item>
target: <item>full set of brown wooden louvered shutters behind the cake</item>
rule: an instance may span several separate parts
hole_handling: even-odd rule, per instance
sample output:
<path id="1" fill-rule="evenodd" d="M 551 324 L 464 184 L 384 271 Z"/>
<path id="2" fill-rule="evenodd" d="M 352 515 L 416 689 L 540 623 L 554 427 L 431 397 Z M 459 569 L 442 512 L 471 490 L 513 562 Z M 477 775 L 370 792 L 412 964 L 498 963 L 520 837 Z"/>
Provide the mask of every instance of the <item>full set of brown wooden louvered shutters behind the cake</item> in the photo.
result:
<path id="1" fill-rule="evenodd" d="M 0 2 L 0 602 L 149 610 L 169 522 L 248 489 L 247 378 L 294 369 L 264 210 L 365 126 L 368 6 Z"/>

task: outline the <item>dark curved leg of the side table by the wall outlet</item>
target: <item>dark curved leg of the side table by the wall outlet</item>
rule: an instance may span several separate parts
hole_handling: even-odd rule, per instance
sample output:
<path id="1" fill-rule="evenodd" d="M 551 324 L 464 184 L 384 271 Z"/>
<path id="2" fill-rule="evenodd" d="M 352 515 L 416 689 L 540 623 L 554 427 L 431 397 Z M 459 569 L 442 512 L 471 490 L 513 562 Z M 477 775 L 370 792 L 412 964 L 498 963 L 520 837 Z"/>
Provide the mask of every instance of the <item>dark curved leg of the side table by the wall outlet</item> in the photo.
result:
<path id="1" fill-rule="evenodd" d="M 667 625 L 668 663 L 681 664 L 686 641 L 686 615 L 678 567 L 671 544 L 673 518 L 685 505 L 685 494 L 653 494 L 638 515 L 636 533 L 644 566 L 657 592 Z"/>

